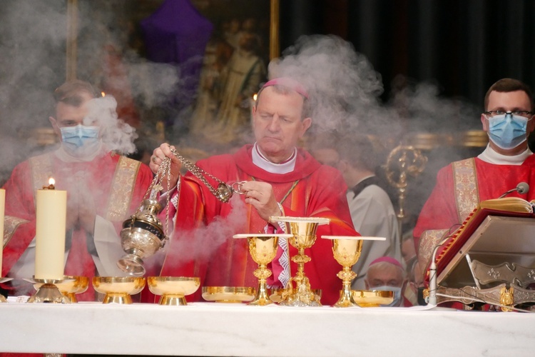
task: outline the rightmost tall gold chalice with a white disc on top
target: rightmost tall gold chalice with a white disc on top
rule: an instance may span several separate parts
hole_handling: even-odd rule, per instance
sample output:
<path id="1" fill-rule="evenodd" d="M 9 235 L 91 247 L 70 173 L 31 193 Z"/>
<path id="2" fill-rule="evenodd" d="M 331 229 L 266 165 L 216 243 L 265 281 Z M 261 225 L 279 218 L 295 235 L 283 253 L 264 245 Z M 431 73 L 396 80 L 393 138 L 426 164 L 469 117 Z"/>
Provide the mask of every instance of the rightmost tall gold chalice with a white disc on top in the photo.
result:
<path id="1" fill-rule="evenodd" d="M 351 267 L 360 258 L 363 241 L 384 241 L 385 238 L 361 236 L 322 236 L 322 238 L 332 241 L 332 253 L 336 261 L 342 266 L 342 271 L 336 275 L 342 279 L 342 291 L 334 306 L 337 308 L 357 306 L 351 292 L 351 281 L 357 277 L 357 273 L 352 271 Z"/>

